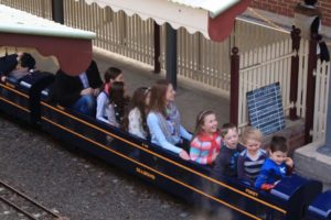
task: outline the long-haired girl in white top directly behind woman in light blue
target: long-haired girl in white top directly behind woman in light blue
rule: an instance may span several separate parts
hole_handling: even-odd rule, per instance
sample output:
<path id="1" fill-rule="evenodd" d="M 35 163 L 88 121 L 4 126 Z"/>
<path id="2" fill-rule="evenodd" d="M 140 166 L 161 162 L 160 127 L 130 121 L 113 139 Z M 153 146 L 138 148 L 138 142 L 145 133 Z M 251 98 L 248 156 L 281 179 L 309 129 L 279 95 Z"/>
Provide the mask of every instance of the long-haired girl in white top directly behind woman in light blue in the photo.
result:
<path id="1" fill-rule="evenodd" d="M 150 100 L 150 88 L 140 87 L 134 92 L 124 118 L 124 129 L 141 139 L 147 139 L 149 132 L 146 123 L 147 107 Z"/>

